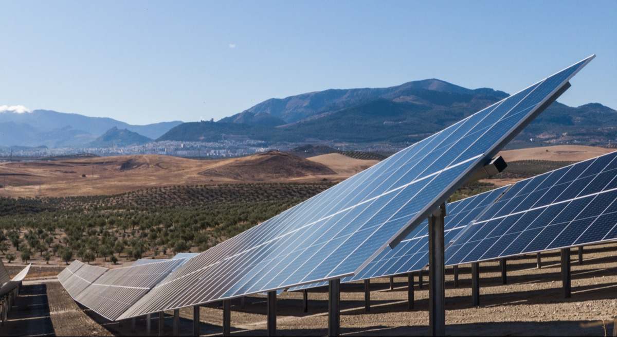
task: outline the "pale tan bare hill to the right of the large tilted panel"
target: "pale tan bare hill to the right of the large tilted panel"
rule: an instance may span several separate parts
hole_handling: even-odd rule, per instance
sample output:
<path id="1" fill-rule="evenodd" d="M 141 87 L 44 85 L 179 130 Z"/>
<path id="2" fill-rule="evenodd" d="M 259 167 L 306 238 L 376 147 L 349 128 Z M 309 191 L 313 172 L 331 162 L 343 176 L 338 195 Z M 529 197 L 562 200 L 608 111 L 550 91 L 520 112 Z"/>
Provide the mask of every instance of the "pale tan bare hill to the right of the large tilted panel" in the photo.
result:
<path id="1" fill-rule="evenodd" d="M 501 151 L 506 162 L 517 160 L 551 160 L 559 162 L 579 162 L 589 158 L 602 156 L 615 149 L 599 148 L 597 146 L 556 145 L 540 148 L 516 149 Z"/>

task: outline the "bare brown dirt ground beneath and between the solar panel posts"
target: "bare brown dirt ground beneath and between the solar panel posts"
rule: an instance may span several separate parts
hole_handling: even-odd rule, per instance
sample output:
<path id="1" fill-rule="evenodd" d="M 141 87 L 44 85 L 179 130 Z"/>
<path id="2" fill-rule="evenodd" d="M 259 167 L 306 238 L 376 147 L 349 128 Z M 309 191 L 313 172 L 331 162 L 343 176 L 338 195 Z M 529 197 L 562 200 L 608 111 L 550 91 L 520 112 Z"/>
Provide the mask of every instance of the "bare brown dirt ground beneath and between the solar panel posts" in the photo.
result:
<path id="1" fill-rule="evenodd" d="M 578 263 L 577 249 L 572 249 L 571 253 L 572 297 L 569 299 L 563 298 L 558 251 L 543 253 L 540 269 L 536 267 L 535 255 L 508 260 L 507 285 L 502 284 L 497 262 L 483 262 L 480 268 L 479 307 L 471 304 L 470 265 L 460 266 L 458 288 L 453 287 L 452 268 L 447 268 L 447 335 L 610 335 L 613 331 L 613 318 L 617 317 L 617 244 L 586 247 L 582 265 Z M 417 275 L 415 277 L 415 301 L 412 310 L 407 307 L 407 277 L 397 277 L 394 280 L 395 288 L 392 291 L 387 278 L 371 280 L 371 312 L 368 314 L 364 312 L 363 284 L 342 285 L 341 335 L 428 335 L 427 273 L 424 273 L 423 289 L 418 288 Z M 9 330 L 0 329 L 2 336 L 33 334 L 43 329 L 39 327 L 48 327 L 49 331 L 52 331 L 41 333 L 66 336 L 131 335 L 128 322 L 122 325 L 106 322 L 88 310 L 79 310 L 56 280 L 27 281 L 25 285 L 30 287 L 27 289 L 31 289 L 29 292 L 33 294 L 33 299 L 39 298 L 42 301 L 33 307 L 49 308 L 49 320 L 23 317 L 17 320 L 12 316 L 14 311 L 7 324 L 10 327 L 11 324 L 16 325 L 19 322 L 19 329 L 15 328 L 15 325 Z M 47 302 L 43 303 L 43 299 Z M 302 293 L 281 294 L 277 301 L 277 335 L 327 335 L 327 299 L 327 289 L 312 289 L 309 292 L 309 312 L 305 314 L 302 311 Z M 22 297 L 17 304 L 23 306 Z M 247 297 L 244 309 L 241 308 L 239 299 L 233 300 L 232 304 L 233 335 L 265 335 L 267 307 L 263 296 Z M 172 312 L 166 314 L 165 335 L 172 335 Z M 25 317 L 23 313 L 20 315 Z M 192 335 L 192 318 L 192 308 L 181 310 L 181 335 Z M 202 335 L 220 335 L 221 320 L 222 310 L 217 304 L 202 307 Z M 158 333 L 157 326 L 156 319 L 153 318 L 153 335 Z M 135 333 L 146 335 L 143 317 L 136 321 Z"/>

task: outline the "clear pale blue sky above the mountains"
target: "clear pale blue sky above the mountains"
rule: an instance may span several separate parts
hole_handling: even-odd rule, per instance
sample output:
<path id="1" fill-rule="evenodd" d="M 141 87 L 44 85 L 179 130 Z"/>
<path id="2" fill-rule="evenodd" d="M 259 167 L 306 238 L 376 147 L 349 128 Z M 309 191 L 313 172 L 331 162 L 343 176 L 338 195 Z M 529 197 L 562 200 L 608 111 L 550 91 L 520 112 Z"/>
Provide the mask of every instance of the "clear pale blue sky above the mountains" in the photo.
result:
<path id="1" fill-rule="evenodd" d="M 130 123 L 440 78 L 513 93 L 597 54 L 560 99 L 617 109 L 617 1 L 4 1 L 0 106 Z"/>

